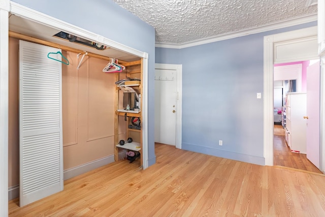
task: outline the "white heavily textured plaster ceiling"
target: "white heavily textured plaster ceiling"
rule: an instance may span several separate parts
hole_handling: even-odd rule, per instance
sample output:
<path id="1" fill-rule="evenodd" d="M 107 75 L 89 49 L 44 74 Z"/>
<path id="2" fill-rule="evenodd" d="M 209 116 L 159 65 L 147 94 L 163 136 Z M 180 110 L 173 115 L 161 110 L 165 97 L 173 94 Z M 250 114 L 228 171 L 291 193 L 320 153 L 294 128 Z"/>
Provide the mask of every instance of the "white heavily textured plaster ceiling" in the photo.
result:
<path id="1" fill-rule="evenodd" d="M 184 44 L 317 13 L 304 0 L 113 0 L 156 31 L 156 42 Z"/>

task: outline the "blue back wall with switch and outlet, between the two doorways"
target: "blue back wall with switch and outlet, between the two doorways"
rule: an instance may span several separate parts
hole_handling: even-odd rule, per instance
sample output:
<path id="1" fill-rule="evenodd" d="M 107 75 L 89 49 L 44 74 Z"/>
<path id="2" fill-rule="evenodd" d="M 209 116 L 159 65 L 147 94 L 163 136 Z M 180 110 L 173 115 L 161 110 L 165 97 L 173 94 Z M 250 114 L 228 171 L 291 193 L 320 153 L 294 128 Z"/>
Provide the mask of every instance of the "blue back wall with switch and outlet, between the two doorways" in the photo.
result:
<path id="1" fill-rule="evenodd" d="M 183 65 L 182 149 L 264 165 L 264 36 L 315 25 L 185 49 L 156 48 L 156 63 Z"/>

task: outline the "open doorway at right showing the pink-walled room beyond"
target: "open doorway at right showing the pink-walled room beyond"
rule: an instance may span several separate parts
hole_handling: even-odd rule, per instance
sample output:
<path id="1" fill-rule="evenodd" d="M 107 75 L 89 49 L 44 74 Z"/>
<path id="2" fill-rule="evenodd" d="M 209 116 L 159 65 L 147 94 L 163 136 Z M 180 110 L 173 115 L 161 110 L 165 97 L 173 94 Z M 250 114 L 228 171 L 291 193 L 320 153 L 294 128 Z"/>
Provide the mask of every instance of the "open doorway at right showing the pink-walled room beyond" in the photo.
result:
<path id="1" fill-rule="evenodd" d="M 310 68 L 313 64 L 319 66 L 319 60 L 274 64 L 273 161 L 275 166 L 322 173 L 319 158 L 314 157 L 319 156 L 319 140 L 314 140 L 319 132 L 319 100 L 309 99 L 320 93 L 319 67 Z M 294 105 L 288 103 L 290 96 L 297 99 Z M 313 118 L 303 118 L 311 112 Z M 311 148 L 317 144 L 318 149 Z"/>

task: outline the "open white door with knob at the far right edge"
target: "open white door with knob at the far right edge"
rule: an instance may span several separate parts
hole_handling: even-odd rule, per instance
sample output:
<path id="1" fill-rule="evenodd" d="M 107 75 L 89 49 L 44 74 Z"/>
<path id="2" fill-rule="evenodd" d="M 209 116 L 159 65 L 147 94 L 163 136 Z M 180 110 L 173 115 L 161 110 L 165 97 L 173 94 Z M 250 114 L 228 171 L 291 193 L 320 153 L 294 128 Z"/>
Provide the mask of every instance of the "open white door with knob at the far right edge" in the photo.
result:
<path id="1" fill-rule="evenodd" d="M 307 158 L 319 168 L 320 65 L 307 67 Z"/>

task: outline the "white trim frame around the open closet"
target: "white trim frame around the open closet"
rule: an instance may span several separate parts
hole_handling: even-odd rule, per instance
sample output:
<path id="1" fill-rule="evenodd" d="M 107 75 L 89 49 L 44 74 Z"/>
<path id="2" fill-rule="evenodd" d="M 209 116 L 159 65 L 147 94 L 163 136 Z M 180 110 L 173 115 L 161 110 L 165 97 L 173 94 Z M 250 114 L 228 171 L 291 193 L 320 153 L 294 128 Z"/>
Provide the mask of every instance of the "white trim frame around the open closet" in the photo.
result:
<path id="1" fill-rule="evenodd" d="M 142 91 L 142 127 L 143 127 L 143 169 L 148 167 L 148 53 L 122 45 L 102 35 L 79 28 L 62 20 L 48 16 L 41 12 L 27 8 L 10 0 L 0 1 L 0 215 L 8 215 L 8 106 L 9 106 L 9 59 L 8 59 L 8 34 L 9 13 L 22 18 L 32 20 L 53 28 L 71 32 L 91 41 L 99 41 L 101 44 L 142 58 L 143 66 L 143 91 Z"/>

